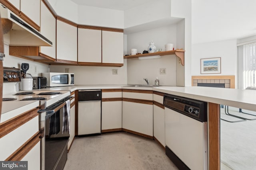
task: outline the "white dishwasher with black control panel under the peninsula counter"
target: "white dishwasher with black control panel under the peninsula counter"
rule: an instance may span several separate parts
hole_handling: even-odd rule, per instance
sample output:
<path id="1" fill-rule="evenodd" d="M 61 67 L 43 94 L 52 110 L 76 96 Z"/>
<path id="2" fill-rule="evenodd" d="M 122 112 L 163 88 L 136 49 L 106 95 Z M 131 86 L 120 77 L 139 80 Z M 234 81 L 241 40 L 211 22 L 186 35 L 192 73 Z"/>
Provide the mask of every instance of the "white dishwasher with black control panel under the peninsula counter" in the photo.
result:
<path id="1" fill-rule="evenodd" d="M 208 169 L 207 103 L 164 95 L 166 155 L 182 170 Z"/>

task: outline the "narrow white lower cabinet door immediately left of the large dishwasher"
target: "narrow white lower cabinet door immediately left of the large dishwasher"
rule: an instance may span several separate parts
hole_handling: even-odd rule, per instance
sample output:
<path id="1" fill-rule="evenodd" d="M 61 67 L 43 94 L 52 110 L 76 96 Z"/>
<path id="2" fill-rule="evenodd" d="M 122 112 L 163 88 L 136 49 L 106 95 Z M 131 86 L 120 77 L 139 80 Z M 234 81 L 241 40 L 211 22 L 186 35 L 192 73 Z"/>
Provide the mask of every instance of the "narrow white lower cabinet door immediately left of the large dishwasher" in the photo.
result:
<path id="1" fill-rule="evenodd" d="M 165 146 L 164 109 L 154 105 L 154 137 Z"/>

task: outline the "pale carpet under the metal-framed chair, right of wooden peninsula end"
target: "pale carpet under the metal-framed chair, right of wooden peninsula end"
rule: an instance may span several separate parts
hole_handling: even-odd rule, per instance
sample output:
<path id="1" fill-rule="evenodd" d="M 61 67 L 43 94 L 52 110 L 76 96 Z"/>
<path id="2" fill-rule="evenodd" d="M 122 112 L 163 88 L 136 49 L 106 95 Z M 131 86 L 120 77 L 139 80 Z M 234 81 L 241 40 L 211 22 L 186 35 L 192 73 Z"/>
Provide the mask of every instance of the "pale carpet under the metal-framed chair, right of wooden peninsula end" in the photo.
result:
<path id="1" fill-rule="evenodd" d="M 252 111 L 247 113 L 255 114 Z M 239 109 L 229 107 L 229 113 L 256 119 L 256 116 L 239 113 Z M 221 109 L 221 118 L 229 121 L 240 120 L 225 115 Z M 255 170 L 256 169 L 256 120 L 230 123 L 220 121 L 220 160 L 221 170 Z"/>

